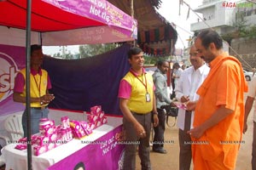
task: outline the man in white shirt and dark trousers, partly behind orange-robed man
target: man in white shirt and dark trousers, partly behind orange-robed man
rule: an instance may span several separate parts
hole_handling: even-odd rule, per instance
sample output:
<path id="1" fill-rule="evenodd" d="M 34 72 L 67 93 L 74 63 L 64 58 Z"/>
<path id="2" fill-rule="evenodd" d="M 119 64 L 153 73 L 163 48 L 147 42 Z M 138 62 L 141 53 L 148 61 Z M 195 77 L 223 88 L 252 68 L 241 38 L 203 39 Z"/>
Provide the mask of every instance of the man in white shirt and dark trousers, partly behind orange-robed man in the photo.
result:
<path id="1" fill-rule="evenodd" d="M 182 72 L 177 86 L 175 88 L 176 99 L 179 102 L 186 103 L 188 101 L 195 101 L 199 99 L 196 94 L 197 89 L 201 86 L 201 83 L 207 77 L 210 68 L 205 64 L 204 60 L 196 51 L 195 46 L 191 46 L 189 51 L 189 59 L 191 65 L 189 68 Z M 177 127 L 179 128 L 179 169 L 189 170 L 191 164 L 191 139 L 187 131 L 193 125 L 194 111 L 185 111 L 178 109 L 177 115 Z"/>

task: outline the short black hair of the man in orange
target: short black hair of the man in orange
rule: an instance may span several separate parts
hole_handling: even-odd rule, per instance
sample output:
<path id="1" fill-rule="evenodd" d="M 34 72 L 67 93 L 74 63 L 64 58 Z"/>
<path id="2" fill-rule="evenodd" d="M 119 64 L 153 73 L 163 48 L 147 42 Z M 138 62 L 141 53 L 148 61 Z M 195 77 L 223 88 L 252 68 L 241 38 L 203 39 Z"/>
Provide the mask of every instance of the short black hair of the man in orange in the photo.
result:
<path id="1" fill-rule="evenodd" d="M 214 43 L 215 47 L 217 49 L 223 48 L 223 42 L 222 38 L 218 35 L 217 31 L 213 31 L 212 29 L 207 29 L 204 31 L 201 31 L 198 35 L 197 38 L 201 39 L 201 44 L 204 48 L 208 48 L 210 43 Z"/>

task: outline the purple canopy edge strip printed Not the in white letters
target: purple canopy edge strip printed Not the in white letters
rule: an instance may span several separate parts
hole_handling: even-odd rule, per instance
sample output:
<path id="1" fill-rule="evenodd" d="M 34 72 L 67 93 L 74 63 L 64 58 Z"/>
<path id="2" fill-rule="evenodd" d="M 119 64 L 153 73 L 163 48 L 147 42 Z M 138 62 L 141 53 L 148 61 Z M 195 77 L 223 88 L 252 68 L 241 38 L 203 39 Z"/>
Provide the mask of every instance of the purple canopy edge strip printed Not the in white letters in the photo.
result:
<path id="1" fill-rule="evenodd" d="M 122 34 L 137 38 L 137 20 L 106 0 L 43 1 L 67 12 L 100 21 L 108 26 L 123 28 L 120 31 Z"/>

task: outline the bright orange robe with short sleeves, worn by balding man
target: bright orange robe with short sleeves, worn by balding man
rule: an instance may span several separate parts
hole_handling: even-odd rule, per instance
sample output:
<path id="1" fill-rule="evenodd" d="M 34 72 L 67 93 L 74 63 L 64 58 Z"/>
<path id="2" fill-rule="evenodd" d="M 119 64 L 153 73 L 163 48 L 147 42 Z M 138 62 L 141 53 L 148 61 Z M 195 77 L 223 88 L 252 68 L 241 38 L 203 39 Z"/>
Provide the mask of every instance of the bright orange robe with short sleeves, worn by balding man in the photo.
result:
<path id="1" fill-rule="evenodd" d="M 234 169 L 242 142 L 243 93 L 247 91 L 247 82 L 241 63 L 234 57 L 218 56 L 212 60 L 210 67 L 207 79 L 197 91 L 200 99 L 195 107 L 194 127 L 206 122 L 220 105 L 234 112 L 196 139 L 198 144 L 192 145 L 194 169 Z"/>

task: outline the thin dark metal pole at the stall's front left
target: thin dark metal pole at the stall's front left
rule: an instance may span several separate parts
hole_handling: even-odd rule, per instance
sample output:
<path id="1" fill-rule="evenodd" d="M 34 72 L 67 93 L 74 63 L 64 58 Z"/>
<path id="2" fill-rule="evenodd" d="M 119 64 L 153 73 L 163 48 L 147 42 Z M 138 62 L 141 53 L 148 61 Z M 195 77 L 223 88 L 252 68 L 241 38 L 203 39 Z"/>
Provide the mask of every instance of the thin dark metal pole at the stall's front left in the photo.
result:
<path id="1" fill-rule="evenodd" d="M 26 126 L 27 169 L 32 170 L 31 110 L 30 110 L 30 45 L 32 0 L 26 1 Z"/>

